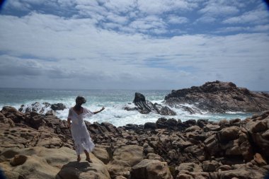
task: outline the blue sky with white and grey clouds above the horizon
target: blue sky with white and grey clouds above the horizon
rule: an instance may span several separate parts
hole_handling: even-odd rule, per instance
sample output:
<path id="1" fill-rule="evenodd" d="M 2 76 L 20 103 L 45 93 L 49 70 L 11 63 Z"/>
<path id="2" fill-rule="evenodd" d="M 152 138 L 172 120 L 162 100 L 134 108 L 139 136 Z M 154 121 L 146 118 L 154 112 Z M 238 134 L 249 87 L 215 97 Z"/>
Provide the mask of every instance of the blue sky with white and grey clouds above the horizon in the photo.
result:
<path id="1" fill-rule="evenodd" d="M 269 91 L 269 11 L 258 0 L 10 0 L 0 87 Z"/>

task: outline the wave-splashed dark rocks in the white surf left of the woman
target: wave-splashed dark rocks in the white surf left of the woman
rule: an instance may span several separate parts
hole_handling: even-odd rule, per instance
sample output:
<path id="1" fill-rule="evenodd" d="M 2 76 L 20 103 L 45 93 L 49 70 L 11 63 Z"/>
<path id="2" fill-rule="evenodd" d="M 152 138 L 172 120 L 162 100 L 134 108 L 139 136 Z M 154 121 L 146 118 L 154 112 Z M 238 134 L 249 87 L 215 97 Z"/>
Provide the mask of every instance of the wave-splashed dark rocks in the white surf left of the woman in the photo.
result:
<path id="1" fill-rule="evenodd" d="M 55 115 L 56 110 L 64 110 L 67 107 L 62 103 L 50 104 L 50 103 L 33 103 L 31 105 L 21 105 L 18 110 L 21 112 L 38 112 L 39 114 Z"/>

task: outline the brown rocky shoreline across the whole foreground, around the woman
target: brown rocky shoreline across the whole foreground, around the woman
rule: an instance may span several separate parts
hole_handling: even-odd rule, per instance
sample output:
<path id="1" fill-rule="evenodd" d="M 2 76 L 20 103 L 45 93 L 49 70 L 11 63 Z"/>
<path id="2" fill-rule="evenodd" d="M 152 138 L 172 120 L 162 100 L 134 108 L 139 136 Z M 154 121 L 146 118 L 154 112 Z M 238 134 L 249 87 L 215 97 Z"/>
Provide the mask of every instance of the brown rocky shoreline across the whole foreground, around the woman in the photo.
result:
<path id="1" fill-rule="evenodd" d="M 0 111 L 0 167 L 6 178 L 264 178 L 269 111 L 245 120 L 159 118 L 115 127 L 86 122 L 93 163 L 76 162 L 66 120 L 51 112 Z"/>

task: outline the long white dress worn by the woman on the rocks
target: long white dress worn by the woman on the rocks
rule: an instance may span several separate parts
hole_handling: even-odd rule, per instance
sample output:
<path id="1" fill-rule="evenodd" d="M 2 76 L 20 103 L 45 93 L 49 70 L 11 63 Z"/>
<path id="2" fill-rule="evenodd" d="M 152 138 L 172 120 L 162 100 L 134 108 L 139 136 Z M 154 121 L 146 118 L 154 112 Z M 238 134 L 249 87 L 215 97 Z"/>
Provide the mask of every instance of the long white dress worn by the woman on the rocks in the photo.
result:
<path id="1" fill-rule="evenodd" d="M 78 115 L 73 108 L 69 109 L 68 118 L 71 119 L 71 134 L 74 139 L 76 154 L 80 155 L 84 150 L 93 151 L 94 144 L 91 141 L 90 134 L 84 122 L 84 117 L 93 115 L 93 112 L 83 108 L 83 112 Z"/>

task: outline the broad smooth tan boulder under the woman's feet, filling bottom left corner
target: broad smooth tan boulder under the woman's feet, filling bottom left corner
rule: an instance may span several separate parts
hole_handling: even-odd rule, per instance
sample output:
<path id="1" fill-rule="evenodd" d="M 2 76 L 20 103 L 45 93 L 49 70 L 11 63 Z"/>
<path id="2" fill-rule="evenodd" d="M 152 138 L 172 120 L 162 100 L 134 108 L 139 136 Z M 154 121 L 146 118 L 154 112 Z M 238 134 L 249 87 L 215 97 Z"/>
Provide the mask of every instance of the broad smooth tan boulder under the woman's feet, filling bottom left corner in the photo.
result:
<path id="1" fill-rule="evenodd" d="M 33 147 L 28 149 L 10 148 L 4 150 L 0 158 L 10 161 L 11 165 L 0 163 L 8 178 L 18 176 L 24 178 L 51 178 L 51 179 L 82 179 L 104 178 L 110 179 L 108 170 L 102 161 L 91 154 L 93 163 L 76 161 L 76 152 L 62 147 L 60 149 L 47 149 Z"/>

